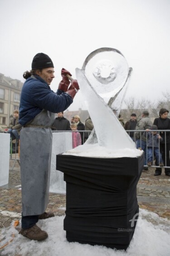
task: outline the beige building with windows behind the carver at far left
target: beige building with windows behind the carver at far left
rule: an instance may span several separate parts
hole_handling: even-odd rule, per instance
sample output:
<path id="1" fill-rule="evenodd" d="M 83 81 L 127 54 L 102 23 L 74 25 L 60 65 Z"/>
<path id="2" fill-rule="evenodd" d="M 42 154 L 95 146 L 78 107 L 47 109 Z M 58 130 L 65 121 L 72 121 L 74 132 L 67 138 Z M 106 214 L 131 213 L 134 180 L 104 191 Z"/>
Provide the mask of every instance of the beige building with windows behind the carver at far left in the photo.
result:
<path id="1" fill-rule="evenodd" d="M 7 128 L 14 110 L 19 110 L 23 82 L 0 73 L 0 126 Z"/>

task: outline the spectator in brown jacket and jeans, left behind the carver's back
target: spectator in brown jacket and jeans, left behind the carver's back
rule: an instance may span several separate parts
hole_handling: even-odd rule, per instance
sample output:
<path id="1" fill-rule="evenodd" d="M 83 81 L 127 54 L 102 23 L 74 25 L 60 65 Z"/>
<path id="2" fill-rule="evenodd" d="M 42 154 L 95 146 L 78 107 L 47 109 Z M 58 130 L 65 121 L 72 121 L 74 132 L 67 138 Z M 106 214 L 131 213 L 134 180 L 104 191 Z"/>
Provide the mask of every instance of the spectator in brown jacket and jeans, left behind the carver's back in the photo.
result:
<path id="1" fill-rule="evenodd" d="M 8 133 L 12 140 L 19 139 L 19 133 L 22 129 L 22 125 L 19 124 L 19 111 L 15 110 L 13 113 L 13 118 L 10 119 Z"/>

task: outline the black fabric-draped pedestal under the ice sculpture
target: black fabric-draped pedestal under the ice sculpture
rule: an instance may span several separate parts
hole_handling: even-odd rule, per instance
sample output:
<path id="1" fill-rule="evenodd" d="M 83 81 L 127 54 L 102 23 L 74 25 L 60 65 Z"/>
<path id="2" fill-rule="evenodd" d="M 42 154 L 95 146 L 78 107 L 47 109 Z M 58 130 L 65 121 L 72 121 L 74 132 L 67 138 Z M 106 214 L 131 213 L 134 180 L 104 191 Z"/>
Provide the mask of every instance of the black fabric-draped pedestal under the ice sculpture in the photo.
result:
<path id="1" fill-rule="evenodd" d="M 126 250 L 139 212 L 136 185 L 143 165 L 143 154 L 138 158 L 57 155 L 56 169 L 66 181 L 67 240 Z"/>

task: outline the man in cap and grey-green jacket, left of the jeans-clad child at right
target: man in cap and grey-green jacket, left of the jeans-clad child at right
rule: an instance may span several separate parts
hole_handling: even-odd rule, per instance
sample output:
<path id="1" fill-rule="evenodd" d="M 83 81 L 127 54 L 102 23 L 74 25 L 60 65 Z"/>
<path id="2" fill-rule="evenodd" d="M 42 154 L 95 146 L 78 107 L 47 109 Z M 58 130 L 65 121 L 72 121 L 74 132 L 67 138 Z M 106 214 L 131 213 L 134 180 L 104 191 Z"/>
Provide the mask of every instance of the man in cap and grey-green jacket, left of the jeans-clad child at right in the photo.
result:
<path id="1" fill-rule="evenodd" d="M 152 126 L 151 119 L 149 118 L 149 112 L 147 110 L 142 112 L 141 119 L 136 125 L 136 130 L 146 130 L 150 129 Z M 136 137 L 136 148 L 140 148 L 145 153 L 145 162 L 147 159 L 147 145 L 146 145 L 146 133 L 145 132 L 135 132 Z M 148 167 L 144 167 L 144 170 L 148 170 Z"/>

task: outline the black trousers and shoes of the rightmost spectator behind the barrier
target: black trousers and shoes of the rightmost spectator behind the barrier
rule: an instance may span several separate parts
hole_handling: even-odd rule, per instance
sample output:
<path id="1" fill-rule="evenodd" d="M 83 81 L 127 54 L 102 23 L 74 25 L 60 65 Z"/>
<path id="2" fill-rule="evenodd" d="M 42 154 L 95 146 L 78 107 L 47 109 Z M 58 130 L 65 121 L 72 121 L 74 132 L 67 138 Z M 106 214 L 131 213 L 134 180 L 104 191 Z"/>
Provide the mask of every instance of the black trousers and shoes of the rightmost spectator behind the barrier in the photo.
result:
<path id="1" fill-rule="evenodd" d="M 162 154 L 162 159 L 163 159 L 164 165 L 170 166 L 170 143 L 166 144 L 166 150 L 165 150 L 165 144 L 160 144 L 160 152 Z M 166 157 L 166 161 L 165 161 L 165 157 Z M 159 165 L 157 163 L 157 160 L 156 160 L 155 164 Z M 156 168 L 155 172 L 161 174 L 162 169 Z M 170 173 L 170 168 L 165 168 L 165 174 L 168 174 L 168 173 Z"/>

